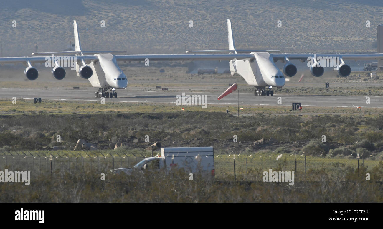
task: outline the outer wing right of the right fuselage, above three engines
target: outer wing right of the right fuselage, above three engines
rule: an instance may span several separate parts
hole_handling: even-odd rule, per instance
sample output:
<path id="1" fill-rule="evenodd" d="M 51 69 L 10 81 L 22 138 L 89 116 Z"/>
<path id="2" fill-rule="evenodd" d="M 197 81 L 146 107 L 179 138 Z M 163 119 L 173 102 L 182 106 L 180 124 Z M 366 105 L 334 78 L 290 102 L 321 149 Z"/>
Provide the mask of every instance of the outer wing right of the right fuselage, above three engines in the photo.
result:
<path id="1" fill-rule="evenodd" d="M 383 59 L 383 53 L 316 53 L 317 57 L 342 57 L 344 60 L 378 60 Z M 314 57 L 314 53 L 270 53 L 270 56 L 277 60 L 307 60 L 309 57 Z"/>

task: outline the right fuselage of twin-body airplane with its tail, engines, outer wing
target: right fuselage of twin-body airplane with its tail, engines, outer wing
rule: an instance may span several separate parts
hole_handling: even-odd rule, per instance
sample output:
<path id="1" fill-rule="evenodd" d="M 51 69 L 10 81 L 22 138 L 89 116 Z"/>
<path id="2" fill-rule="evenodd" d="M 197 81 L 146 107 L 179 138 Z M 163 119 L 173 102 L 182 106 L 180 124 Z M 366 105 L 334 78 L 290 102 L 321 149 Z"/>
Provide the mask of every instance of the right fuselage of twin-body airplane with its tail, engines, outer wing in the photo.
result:
<path id="1" fill-rule="evenodd" d="M 303 54 L 287 54 L 287 53 L 270 53 L 279 50 L 237 50 L 234 44 L 234 37 L 231 29 L 231 22 L 228 19 L 228 37 L 229 37 L 229 49 L 228 50 L 190 50 L 186 53 L 229 53 L 229 54 L 241 54 L 248 53 L 252 55 L 252 58 L 233 59 L 229 62 L 231 75 L 237 73 L 242 76 L 247 84 L 254 86 L 257 90 L 254 91 L 255 96 L 273 96 L 272 87 L 282 88 L 285 85 L 285 75 L 292 77 L 297 73 L 297 68 L 290 60 L 300 60 L 306 62 L 306 60 L 313 60 L 310 64 L 310 71 L 313 76 L 320 77 L 324 73 L 324 64 L 327 63 L 327 67 L 332 60 L 335 60 L 336 70 L 340 76 L 348 76 L 351 73 L 349 65 L 344 63 L 344 60 L 377 60 L 383 59 L 382 53 L 358 53 L 358 54 L 339 54 L 339 53 L 303 53 Z M 245 54 L 245 55 L 248 55 Z M 321 57 L 321 58 L 319 58 Z M 336 59 L 338 58 L 338 59 Z M 319 59 L 319 61 L 318 61 Z M 254 61 L 255 60 L 255 61 Z M 275 62 L 278 60 L 285 63 L 282 71 L 279 70 Z M 311 62 L 310 62 L 311 63 Z M 325 66 L 325 67 L 326 67 Z M 282 73 L 283 72 L 283 73 Z M 265 88 L 268 88 L 266 90 Z"/>

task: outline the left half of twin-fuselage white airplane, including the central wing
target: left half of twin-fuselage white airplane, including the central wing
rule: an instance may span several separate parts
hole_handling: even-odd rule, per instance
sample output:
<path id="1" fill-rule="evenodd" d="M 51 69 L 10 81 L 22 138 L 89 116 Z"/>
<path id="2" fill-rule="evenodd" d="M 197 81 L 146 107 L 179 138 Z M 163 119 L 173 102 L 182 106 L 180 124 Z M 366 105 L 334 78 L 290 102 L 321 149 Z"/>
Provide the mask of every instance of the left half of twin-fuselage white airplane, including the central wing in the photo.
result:
<path id="1" fill-rule="evenodd" d="M 38 71 L 32 66 L 33 63 L 44 63 L 52 68 L 52 75 L 57 80 L 64 79 L 66 71 L 64 67 L 70 66 L 70 60 L 75 61 L 77 76 L 90 81 L 93 87 L 98 88 L 95 96 L 116 98 L 116 89 L 125 89 L 128 79 L 119 68 L 118 61 L 156 61 L 156 60 L 232 60 L 234 58 L 250 59 L 253 55 L 238 54 L 170 54 L 170 55 L 115 55 L 126 51 L 83 51 L 81 49 L 77 22 L 73 21 L 75 51 L 66 52 L 39 52 L 32 53 L 33 57 L 2 57 L 0 64 L 22 63 L 26 69 L 24 74 L 28 80 L 36 80 Z M 48 64 L 47 64 L 48 63 Z M 108 90 L 111 89 L 111 92 Z"/>

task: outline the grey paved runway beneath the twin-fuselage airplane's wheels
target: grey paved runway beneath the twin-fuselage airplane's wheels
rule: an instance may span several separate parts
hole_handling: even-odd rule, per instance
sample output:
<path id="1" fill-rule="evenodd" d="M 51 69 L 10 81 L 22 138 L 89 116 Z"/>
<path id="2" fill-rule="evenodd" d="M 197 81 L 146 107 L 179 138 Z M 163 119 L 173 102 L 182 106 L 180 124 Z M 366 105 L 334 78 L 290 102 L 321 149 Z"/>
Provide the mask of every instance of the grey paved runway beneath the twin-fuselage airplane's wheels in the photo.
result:
<path id="1" fill-rule="evenodd" d="M 12 99 L 12 97 L 23 99 L 34 99 L 41 97 L 44 100 L 73 100 L 73 101 L 100 101 L 95 98 L 96 89 L 11 89 L 1 88 L 0 99 Z M 237 92 L 217 100 L 221 93 L 196 93 L 190 91 L 133 91 L 116 90 L 117 98 L 106 98 L 105 102 L 148 102 L 148 103 L 168 103 L 175 104 L 177 95 L 185 93 L 185 95 L 206 95 L 207 104 L 214 105 L 236 105 Z M 280 97 L 280 98 L 279 98 Z M 278 101 L 280 103 L 278 103 Z M 383 96 L 371 96 L 370 104 L 366 103 L 366 96 L 309 96 L 309 95 L 293 95 L 293 94 L 274 94 L 271 96 L 254 96 L 254 93 L 239 93 L 239 103 L 247 106 L 291 106 L 292 103 L 301 103 L 301 106 L 318 106 L 318 107 L 375 107 L 383 108 Z"/>

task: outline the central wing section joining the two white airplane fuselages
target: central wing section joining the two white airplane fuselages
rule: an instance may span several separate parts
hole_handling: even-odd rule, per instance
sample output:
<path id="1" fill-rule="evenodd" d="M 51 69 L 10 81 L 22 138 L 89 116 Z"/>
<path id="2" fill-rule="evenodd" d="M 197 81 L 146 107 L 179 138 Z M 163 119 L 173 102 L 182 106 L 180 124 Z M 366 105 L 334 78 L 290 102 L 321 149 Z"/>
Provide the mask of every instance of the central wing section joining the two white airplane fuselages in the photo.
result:
<path id="1" fill-rule="evenodd" d="M 158 61 L 158 60 L 250 60 L 254 54 L 151 54 L 151 55 L 115 55 L 118 61 Z"/>

